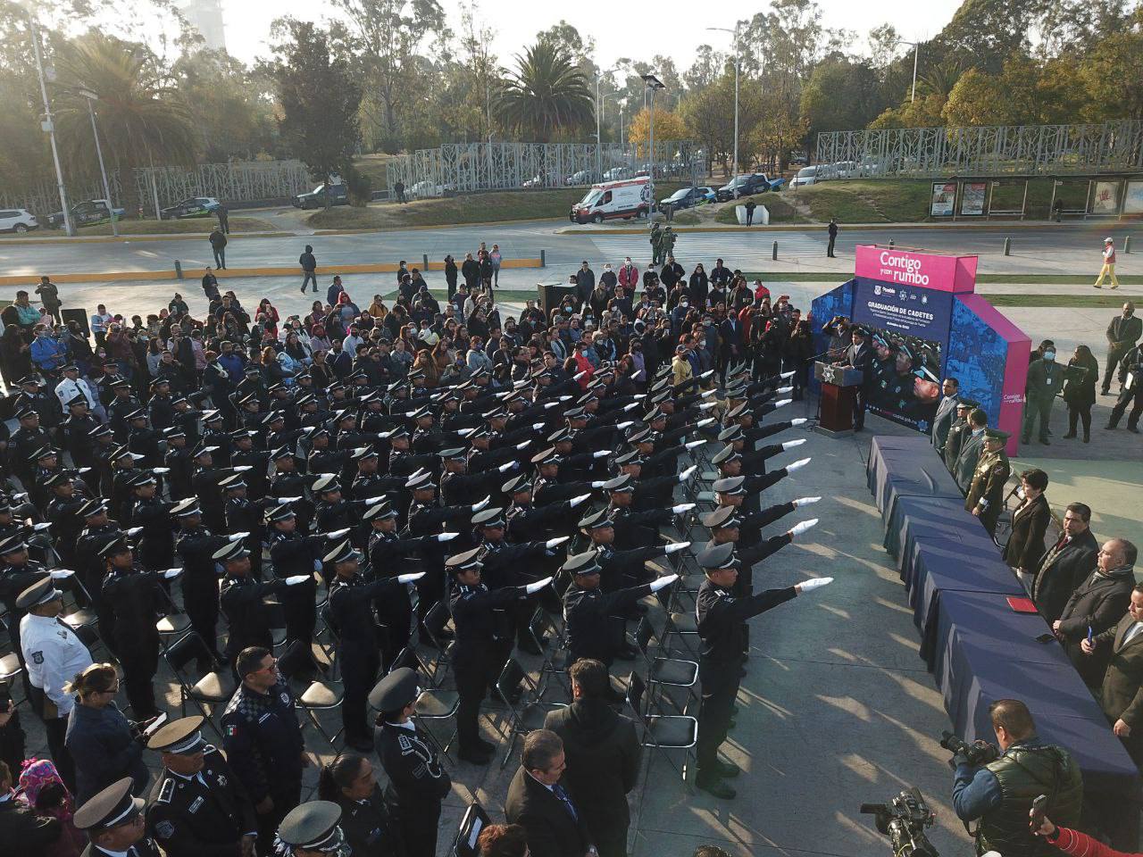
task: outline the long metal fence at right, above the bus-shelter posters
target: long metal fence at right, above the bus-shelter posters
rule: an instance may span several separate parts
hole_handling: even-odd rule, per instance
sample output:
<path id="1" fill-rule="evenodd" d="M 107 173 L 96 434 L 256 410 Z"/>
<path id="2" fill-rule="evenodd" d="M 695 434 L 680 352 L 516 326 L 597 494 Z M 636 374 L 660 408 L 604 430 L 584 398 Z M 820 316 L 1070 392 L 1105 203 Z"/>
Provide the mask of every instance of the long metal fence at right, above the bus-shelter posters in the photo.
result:
<path id="1" fill-rule="evenodd" d="M 1136 173 L 1143 122 L 829 131 L 816 161 L 840 178 Z"/>

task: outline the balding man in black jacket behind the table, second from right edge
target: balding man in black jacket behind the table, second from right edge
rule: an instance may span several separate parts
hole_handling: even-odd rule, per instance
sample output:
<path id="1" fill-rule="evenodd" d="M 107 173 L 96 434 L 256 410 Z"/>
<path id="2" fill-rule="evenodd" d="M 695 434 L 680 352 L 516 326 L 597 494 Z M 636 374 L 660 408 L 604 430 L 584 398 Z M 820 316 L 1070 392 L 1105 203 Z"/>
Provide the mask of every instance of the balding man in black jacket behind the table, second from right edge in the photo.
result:
<path id="1" fill-rule="evenodd" d="M 1052 623 L 1080 678 L 1097 696 L 1111 651 L 1096 656 L 1084 650 L 1084 641 L 1116 627 L 1135 586 L 1135 560 L 1138 551 L 1126 538 L 1112 538 L 1100 548 L 1098 568 L 1072 593 L 1064 611 Z"/>

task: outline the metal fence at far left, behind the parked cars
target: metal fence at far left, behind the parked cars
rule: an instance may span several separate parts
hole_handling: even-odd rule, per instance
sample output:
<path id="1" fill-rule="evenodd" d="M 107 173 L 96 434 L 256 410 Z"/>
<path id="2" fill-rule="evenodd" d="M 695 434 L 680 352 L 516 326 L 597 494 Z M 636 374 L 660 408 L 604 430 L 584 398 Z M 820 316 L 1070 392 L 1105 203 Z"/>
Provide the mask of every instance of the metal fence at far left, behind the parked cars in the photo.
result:
<path id="1" fill-rule="evenodd" d="M 289 198 L 314 183 L 301 161 L 235 161 L 203 163 L 198 167 L 143 167 L 134 170 L 135 192 L 146 214 L 153 215 L 154 199 L 166 208 L 189 197 L 216 197 L 226 202 L 249 202 Z M 122 205 L 123 192 L 118 173 L 107 175 L 111 197 Z M 103 183 L 67 182 L 67 200 L 75 205 L 103 198 Z M 59 191 L 51 181 L 23 190 L 0 192 L 0 208 L 26 208 L 37 216 L 59 210 Z M 131 211 L 127 213 L 131 215 Z"/>

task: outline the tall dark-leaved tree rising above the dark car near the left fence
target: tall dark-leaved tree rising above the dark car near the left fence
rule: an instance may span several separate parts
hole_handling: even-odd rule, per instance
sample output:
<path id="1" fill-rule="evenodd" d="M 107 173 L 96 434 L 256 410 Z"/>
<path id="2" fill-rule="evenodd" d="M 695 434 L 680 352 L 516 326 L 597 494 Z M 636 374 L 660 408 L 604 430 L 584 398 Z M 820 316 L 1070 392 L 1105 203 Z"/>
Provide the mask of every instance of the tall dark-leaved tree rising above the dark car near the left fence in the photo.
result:
<path id="1" fill-rule="evenodd" d="M 331 51 L 328 33 L 310 22 L 290 23 L 290 41 L 278 47 L 273 75 L 280 128 L 315 178 L 347 174 L 361 136 L 361 87 L 349 62 Z M 326 206 L 333 197 L 326 195 Z"/>

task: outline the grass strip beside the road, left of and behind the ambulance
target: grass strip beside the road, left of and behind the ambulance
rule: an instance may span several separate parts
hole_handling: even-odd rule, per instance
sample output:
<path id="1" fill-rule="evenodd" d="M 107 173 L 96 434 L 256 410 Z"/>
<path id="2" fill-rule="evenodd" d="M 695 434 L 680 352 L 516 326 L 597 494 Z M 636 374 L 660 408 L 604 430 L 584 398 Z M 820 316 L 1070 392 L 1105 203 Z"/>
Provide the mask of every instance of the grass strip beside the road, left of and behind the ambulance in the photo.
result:
<path id="1" fill-rule="evenodd" d="M 655 185 L 656 195 L 677 191 L 679 184 Z M 339 206 L 314 211 L 306 223 L 319 230 L 384 230 L 403 226 L 454 226 L 462 223 L 567 217 L 583 199 L 585 187 L 544 191 L 497 191 L 447 199 L 415 200 L 401 206 L 386 202 L 366 208 Z"/>

